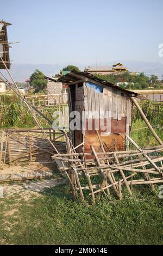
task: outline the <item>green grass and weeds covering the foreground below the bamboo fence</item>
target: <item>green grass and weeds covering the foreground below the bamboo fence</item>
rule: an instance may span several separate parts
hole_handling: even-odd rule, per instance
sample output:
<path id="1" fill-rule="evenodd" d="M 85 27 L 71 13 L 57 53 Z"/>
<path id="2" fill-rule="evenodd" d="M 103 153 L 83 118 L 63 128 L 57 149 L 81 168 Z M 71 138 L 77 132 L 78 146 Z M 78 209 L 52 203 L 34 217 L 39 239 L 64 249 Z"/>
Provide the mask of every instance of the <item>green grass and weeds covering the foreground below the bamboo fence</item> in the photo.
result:
<path id="1" fill-rule="evenodd" d="M 28 202 L 18 194 L 1 199 L 1 244 L 161 245 L 163 200 L 147 191 L 137 190 L 132 199 L 126 193 L 122 201 L 103 198 L 96 205 L 73 202 L 65 185 Z"/>

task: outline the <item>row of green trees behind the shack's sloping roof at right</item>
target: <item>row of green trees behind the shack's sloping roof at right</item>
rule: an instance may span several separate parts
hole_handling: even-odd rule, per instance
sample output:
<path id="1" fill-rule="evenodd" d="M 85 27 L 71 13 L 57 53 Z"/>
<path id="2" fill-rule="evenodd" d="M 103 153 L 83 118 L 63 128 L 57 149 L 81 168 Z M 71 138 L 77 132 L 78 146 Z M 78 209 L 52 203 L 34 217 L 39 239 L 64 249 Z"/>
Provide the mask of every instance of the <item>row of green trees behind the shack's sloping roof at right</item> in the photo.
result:
<path id="1" fill-rule="evenodd" d="M 148 77 L 145 75 L 144 72 L 140 72 L 139 74 L 130 74 L 128 71 L 126 71 L 123 73 L 119 73 L 118 75 L 96 74 L 96 76 L 110 83 L 122 83 L 120 84 L 120 87 L 126 89 L 147 89 L 149 86 L 156 89 L 163 88 L 163 84 L 158 81 L 157 76 L 152 75 L 151 77 Z"/>

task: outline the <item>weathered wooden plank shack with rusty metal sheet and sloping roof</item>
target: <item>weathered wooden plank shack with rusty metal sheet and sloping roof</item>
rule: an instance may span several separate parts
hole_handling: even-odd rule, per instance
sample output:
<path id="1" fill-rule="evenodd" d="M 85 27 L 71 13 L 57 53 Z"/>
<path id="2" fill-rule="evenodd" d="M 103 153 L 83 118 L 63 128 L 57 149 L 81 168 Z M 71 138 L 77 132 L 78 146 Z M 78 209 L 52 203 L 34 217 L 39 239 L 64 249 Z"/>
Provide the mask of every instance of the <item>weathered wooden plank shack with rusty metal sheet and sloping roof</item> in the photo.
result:
<path id="1" fill-rule="evenodd" d="M 58 80 L 68 86 L 68 105 L 70 113 L 78 111 L 78 125 L 70 129 L 74 147 L 80 152 L 90 152 L 90 146 L 101 151 L 124 150 L 126 133 L 131 127 L 131 97 L 140 97 L 134 92 L 122 89 L 87 72 L 71 71 Z M 83 115 L 82 115 L 83 113 Z M 98 125 L 100 121 L 104 126 Z M 70 123 L 73 115 L 70 115 Z M 79 128 L 79 123 L 80 128 Z M 92 127 L 91 127 L 92 123 Z M 70 127 L 71 128 L 71 127 Z"/>

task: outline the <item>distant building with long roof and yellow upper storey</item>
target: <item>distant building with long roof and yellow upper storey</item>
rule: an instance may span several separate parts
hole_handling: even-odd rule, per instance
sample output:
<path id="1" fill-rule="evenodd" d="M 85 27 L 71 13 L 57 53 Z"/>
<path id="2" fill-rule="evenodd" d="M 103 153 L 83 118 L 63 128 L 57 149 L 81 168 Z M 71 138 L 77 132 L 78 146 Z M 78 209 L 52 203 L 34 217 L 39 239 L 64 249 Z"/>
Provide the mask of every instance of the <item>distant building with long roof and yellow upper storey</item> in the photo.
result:
<path id="1" fill-rule="evenodd" d="M 122 63 L 116 63 L 112 66 L 89 66 L 85 71 L 92 74 L 100 74 L 100 75 L 110 75 L 110 74 L 118 74 L 119 72 L 127 71 Z"/>

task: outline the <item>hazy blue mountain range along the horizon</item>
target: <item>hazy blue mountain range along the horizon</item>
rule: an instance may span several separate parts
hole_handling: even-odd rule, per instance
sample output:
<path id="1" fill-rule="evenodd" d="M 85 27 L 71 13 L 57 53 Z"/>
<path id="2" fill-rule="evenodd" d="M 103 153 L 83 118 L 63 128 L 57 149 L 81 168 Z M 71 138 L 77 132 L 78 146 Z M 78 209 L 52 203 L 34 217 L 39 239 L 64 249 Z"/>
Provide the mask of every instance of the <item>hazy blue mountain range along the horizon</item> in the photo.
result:
<path id="1" fill-rule="evenodd" d="M 114 63 L 121 62 L 120 60 L 107 63 L 98 63 L 98 66 L 112 65 Z M 129 71 L 133 72 L 145 72 L 148 76 L 157 75 L 161 80 L 163 75 L 163 63 L 159 62 L 137 62 L 135 60 L 122 61 L 122 63 L 129 68 Z M 63 64 L 13 64 L 11 65 L 11 74 L 13 75 L 15 81 L 24 82 L 26 78 L 34 72 L 35 69 L 39 69 L 46 76 L 53 76 L 58 74 L 58 72 L 64 68 L 66 65 L 76 65 L 80 70 L 84 70 L 85 65 L 78 63 L 63 63 Z M 95 65 L 90 63 L 91 65 Z"/>

